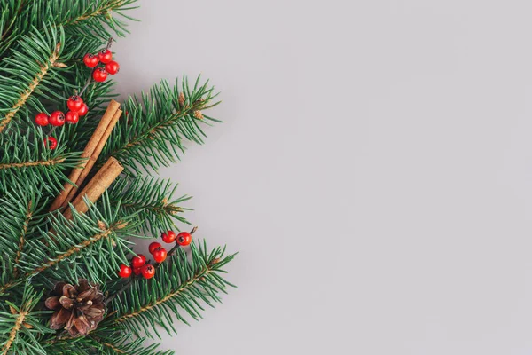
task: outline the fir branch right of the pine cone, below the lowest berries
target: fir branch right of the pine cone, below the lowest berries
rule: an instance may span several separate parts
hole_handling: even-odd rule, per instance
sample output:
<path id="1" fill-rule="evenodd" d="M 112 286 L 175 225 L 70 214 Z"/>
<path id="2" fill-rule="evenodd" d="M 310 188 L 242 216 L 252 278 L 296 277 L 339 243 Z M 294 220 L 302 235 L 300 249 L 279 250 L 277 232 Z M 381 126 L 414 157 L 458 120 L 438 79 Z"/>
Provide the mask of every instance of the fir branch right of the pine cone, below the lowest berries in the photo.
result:
<path id="1" fill-rule="evenodd" d="M 189 261 L 184 249 L 178 248 L 176 254 L 160 264 L 153 279 L 131 283 L 113 300 L 111 308 L 116 312 L 108 316 L 107 324 L 123 325 L 137 335 L 144 332 L 151 337 L 152 332 L 159 336 L 156 326 L 164 327 L 168 333 L 175 331 L 170 313 L 188 324 L 178 307 L 192 319 L 199 319 L 203 310 L 199 301 L 214 306 L 213 302 L 221 302 L 217 294 L 233 286 L 219 273 L 225 272 L 223 266 L 235 255 L 223 255 L 224 248 L 208 252 L 205 243 L 192 243 Z"/>

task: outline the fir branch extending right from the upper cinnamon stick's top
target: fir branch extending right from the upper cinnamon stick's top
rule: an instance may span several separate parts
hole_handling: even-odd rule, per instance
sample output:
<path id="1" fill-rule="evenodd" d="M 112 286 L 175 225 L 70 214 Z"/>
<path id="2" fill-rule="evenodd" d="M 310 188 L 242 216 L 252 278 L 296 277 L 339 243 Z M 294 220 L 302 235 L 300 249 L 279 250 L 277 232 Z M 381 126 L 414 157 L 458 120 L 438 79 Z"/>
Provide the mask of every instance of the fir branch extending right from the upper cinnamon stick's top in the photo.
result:
<path id="1" fill-rule="evenodd" d="M 129 98 L 124 103 L 127 114 L 114 128 L 98 162 L 114 156 L 137 172 L 157 170 L 160 165 L 176 162 L 184 153 L 184 139 L 201 144 L 203 137 L 207 137 L 201 123 L 219 122 L 205 114 L 202 119 L 194 115 L 216 106 L 218 102 L 213 103 L 216 96 L 214 87 L 208 86 L 208 81 L 200 85 L 198 77 L 193 89 L 186 78 L 181 85 L 176 80 L 173 89 L 162 81 L 149 94 L 143 94 L 142 99 Z"/>

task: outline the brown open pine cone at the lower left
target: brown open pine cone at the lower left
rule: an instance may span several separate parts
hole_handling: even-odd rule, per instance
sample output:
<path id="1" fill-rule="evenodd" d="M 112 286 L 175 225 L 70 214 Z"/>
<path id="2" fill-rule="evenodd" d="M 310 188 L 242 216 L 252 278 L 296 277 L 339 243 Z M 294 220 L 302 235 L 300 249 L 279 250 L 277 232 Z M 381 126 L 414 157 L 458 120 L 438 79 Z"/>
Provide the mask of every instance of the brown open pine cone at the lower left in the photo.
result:
<path id="1" fill-rule="evenodd" d="M 65 327 L 70 336 L 89 334 L 98 327 L 106 313 L 104 295 L 99 286 L 90 285 L 85 279 L 78 280 L 76 286 L 58 282 L 44 304 L 55 311 L 51 315 L 50 327 Z"/>

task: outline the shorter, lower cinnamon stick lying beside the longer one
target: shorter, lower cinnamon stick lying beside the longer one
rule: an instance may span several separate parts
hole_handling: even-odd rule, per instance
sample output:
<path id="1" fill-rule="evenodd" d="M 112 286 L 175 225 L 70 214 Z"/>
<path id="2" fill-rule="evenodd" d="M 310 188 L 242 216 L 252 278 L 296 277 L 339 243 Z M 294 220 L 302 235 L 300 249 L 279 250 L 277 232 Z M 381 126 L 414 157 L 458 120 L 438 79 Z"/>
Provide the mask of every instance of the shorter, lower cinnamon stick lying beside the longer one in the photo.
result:
<path id="1" fill-rule="evenodd" d="M 118 162 L 113 157 L 109 158 L 107 162 L 102 166 L 100 170 L 96 173 L 94 177 L 90 179 L 89 184 L 87 184 L 82 192 L 77 195 L 77 197 L 72 201 L 72 206 L 80 213 L 85 213 L 89 210 L 89 206 L 84 201 L 86 197 L 90 202 L 94 203 L 98 201 L 102 193 L 106 191 L 113 181 L 118 177 L 124 167 L 121 166 L 121 163 Z M 72 209 L 66 209 L 64 216 L 67 219 L 72 219 Z"/>

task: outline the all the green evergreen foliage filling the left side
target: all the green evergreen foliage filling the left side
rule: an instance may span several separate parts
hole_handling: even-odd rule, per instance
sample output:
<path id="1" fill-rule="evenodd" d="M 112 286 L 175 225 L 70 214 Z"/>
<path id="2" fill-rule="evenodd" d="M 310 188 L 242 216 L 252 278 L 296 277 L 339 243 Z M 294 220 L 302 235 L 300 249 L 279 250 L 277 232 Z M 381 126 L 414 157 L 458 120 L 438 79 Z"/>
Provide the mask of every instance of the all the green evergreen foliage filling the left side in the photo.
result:
<path id="1" fill-rule="evenodd" d="M 224 269 L 234 255 L 207 248 L 194 234 L 189 247 L 172 248 L 156 264 L 153 279 L 123 280 L 117 271 L 135 255 L 139 238 L 190 225 L 190 197 L 151 175 L 181 159 L 191 142 L 203 143 L 201 125 L 218 122 L 206 113 L 217 105 L 217 93 L 208 81 L 189 83 L 184 76 L 126 99 L 94 170 L 112 156 L 127 170 L 99 201 L 87 201 L 86 213 L 74 210 L 66 219 L 49 211 L 51 201 L 84 163 L 81 152 L 117 96 L 113 81 L 90 83 L 82 95 L 89 114 L 54 131 L 54 150 L 43 143 L 50 129 L 36 126 L 34 117 L 66 111 L 66 99 L 90 79 L 83 55 L 127 34 L 135 0 L 0 5 L 0 354 L 173 353 L 146 345 L 146 338 L 161 330 L 173 334 L 176 321 L 200 319 L 205 306 L 220 302 L 232 286 Z M 43 301 L 56 282 L 81 278 L 100 286 L 107 310 L 89 335 L 72 338 L 50 328 L 52 312 Z"/>

